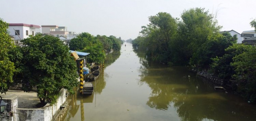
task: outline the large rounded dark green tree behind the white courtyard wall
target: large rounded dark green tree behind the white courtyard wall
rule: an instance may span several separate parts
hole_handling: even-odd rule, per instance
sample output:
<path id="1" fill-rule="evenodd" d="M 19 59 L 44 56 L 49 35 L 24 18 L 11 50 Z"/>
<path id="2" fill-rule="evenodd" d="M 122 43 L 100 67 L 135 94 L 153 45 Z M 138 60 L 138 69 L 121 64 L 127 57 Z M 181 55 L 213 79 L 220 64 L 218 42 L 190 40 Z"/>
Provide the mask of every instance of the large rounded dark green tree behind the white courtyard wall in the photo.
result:
<path id="1" fill-rule="evenodd" d="M 56 103 L 62 88 L 74 93 L 73 88 L 78 85 L 76 63 L 60 39 L 36 35 L 21 42 L 22 90 L 29 92 L 36 87 L 42 104 Z"/>

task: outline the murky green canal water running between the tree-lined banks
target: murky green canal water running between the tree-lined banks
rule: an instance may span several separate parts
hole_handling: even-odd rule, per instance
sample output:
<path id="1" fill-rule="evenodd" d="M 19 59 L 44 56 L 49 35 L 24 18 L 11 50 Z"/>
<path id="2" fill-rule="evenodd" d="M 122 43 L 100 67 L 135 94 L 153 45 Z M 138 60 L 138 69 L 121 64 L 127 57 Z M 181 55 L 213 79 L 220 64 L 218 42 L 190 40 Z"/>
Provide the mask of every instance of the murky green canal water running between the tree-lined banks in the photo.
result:
<path id="1" fill-rule="evenodd" d="M 107 55 L 93 84 L 92 95 L 68 97 L 63 121 L 256 121 L 255 105 L 189 68 L 148 62 L 130 43 Z"/>

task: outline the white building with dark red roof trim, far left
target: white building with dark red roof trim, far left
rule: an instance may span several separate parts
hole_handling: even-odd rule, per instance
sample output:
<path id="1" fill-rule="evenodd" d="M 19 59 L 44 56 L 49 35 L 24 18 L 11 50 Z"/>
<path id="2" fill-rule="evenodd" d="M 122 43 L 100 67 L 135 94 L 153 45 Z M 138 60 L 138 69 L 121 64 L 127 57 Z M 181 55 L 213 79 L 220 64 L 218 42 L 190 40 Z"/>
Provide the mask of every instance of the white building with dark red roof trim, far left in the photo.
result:
<path id="1" fill-rule="evenodd" d="M 35 36 L 36 33 L 40 33 L 40 26 L 32 24 L 9 24 L 9 35 L 13 36 L 15 40 L 22 40 L 28 38 L 29 35 Z"/>

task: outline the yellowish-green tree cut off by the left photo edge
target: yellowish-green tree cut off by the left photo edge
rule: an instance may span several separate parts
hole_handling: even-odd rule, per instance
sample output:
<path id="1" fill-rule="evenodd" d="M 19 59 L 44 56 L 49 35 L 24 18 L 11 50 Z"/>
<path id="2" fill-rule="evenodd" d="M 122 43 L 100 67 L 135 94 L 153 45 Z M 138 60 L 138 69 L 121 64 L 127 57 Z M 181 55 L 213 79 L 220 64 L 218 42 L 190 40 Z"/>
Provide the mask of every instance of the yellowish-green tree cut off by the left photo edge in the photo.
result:
<path id="1" fill-rule="evenodd" d="M 10 61 L 8 54 L 14 47 L 13 41 L 9 37 L 7 28 L 9 24 L 0 18 L 0 92 L 6 94 L 8 84 L 12 83 L 13 72 L 15 71 L 14 63 Z"/>

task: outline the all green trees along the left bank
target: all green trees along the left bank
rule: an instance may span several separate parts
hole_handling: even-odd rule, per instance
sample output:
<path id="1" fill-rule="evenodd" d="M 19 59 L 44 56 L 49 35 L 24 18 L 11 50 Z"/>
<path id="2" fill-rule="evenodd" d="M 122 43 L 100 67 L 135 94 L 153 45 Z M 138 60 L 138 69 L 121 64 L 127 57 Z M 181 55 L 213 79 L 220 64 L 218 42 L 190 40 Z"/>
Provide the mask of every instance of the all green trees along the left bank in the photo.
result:
<path id="1" fill-rule="evenodd" d="M 90 53 L 88 61 L 102 63 L 105 52 L 120 50 L 122 40 L 115 36 L 93 37 L 83 32 L 70 43 L 70 48 L 54 36 L 37 34 L 21 40 L 23 47 L 15 46 L 9 37 L 8 23 L 0 18 L 0 92 L 9 86 L 22 85 L 24 92 L 37 88 L 38 106 L 55 104 L 59 91 L 64 88 L 74 93 L 78 75 L 76 62 L 69 50 Z"/>

